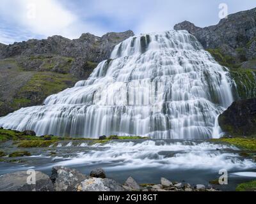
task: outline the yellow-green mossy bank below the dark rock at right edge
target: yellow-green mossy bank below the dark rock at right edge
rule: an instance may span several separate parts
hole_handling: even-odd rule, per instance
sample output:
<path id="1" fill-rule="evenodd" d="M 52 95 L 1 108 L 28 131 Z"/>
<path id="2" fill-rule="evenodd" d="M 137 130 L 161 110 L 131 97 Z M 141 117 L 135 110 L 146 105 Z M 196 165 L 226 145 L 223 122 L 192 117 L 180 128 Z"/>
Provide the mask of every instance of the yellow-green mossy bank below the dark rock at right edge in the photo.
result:
<path id="1" fill-rule="evenodd" d="M 212 139 L 212 142 L 227 142 L 236 147 L 256 151 L 256 138 L 220 138 Z"/>

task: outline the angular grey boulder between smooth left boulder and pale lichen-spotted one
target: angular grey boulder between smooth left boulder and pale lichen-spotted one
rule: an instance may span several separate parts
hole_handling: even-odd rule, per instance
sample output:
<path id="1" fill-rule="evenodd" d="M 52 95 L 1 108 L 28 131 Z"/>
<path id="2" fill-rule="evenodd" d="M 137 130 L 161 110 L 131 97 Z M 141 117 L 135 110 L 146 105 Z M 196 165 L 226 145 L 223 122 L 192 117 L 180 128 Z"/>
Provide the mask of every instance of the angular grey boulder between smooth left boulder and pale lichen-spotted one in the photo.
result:
<path id="1" fill-rule="evenodd" d="M 55 191 L 77 191 L 77 186 L 89 177 L 81 174 L 75 169 L 64 166 L 54 166 L 52 168 L 51 180 Z"/>

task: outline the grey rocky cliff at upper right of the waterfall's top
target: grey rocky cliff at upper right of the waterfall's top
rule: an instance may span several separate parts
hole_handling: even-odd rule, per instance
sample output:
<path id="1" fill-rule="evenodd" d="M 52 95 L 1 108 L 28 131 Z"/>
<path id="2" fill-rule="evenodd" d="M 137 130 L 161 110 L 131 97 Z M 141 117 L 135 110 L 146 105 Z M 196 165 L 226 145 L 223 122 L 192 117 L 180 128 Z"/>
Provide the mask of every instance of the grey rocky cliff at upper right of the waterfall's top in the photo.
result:
<path id="1" fill-rule="evenodd" d="M 220 49 L 238 62 L 256 57 L 256 8 L 228 15 L 218 25 L 196 27 L 188 21 L 174 26 L 196 36 L 205 49 Z"/>

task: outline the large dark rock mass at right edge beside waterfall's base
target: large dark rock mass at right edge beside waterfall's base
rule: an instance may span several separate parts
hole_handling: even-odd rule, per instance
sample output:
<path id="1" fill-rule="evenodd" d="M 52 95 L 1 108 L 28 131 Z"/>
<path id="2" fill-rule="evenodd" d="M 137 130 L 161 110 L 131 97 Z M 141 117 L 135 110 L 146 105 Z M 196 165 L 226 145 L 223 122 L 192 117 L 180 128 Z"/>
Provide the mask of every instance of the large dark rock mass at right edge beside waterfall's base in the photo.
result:
<path id="1" fill-rule="evenodd" d="M 256 136 L 256 99 L 236 101 L 219 117 L 227 135 Z"/>

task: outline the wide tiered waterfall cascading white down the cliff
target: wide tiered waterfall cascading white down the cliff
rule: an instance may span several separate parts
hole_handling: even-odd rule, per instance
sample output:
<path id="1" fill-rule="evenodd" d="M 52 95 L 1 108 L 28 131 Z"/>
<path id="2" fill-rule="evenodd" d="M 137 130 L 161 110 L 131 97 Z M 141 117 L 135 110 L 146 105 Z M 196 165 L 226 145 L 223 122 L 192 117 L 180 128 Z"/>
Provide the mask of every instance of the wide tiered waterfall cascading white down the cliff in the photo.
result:
<path id="1" fill-rule="evenodd" d="M 37 135 L 218 136 L 218 115 L 233 101 L 228 71 L 187 31 L 141 34 L 116 45 L 88 80 L 44 106 L 0 119 Z"/>

